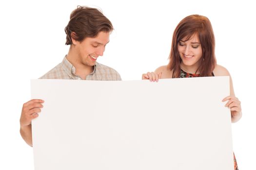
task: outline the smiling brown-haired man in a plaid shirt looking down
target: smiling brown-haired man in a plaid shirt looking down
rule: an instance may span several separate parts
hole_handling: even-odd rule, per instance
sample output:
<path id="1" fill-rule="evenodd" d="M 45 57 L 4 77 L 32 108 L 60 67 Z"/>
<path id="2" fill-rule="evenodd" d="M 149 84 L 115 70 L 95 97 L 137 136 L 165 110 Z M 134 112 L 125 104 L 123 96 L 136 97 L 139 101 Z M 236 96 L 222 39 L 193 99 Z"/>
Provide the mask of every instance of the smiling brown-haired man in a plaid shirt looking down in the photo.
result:
<path id="1" fill-rule="evenodd" d="M 113 68 L 96 62 L 103 55 L 113 31 L 112 23 L 98 9 L 78 6 L 65 28 L 68 54 L 61 63 L 41 79 L 121 80 Z M 64 95 L 64 94 L 63 94 Z M 31 120 L 37 118 L 44 101 L 33 99 L 23 104 L 20 116 L 20 135 L 33 146 Z"/>

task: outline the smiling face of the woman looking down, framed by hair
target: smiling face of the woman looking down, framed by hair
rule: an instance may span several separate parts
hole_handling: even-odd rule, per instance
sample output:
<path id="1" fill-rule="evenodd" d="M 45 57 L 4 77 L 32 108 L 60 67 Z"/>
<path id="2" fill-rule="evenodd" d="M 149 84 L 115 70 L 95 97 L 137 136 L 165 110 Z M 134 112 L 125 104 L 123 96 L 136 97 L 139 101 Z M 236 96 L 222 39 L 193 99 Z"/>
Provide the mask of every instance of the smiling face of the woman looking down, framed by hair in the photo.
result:
<path id="1" fill-rule="evenodd" d="M 178 52 L 182 60 L 181 65 L 186 68 L 198 68 L 200 58 L 202 57 L 202 47 L 197 34 L 191 36 L 187 41 L 187 37 L 182 38 L 178 42 Z"/>

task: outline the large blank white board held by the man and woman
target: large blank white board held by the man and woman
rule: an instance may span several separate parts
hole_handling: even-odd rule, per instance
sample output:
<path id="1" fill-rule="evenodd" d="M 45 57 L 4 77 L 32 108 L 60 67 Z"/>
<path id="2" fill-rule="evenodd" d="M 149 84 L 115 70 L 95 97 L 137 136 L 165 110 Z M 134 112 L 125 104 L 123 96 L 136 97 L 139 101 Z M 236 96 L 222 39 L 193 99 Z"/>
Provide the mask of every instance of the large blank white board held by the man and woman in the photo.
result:
<path id="1" fill-rule="evenodd" d="M 229 77 L 32 80 L 35 170 L 234 170 Z"/>

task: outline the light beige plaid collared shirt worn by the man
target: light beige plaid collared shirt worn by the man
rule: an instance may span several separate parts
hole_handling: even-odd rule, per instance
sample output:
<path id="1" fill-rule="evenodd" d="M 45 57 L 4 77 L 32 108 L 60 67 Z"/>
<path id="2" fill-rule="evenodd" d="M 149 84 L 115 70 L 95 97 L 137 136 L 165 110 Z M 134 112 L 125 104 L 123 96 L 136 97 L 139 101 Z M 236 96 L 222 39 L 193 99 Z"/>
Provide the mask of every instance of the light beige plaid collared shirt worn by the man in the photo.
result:
<path id="1" fill-rule="evenodd" d="M 59 65 L 51 69 L 39 79 L 73 79 L 81 80 L 81 77 L 75 74 L 76 68 L 67 60 L 66 56 Z M 119 73 L 110 67 L 96 62 L 92 73 L 86 76 L 85 80 L 121 80 Z"/>

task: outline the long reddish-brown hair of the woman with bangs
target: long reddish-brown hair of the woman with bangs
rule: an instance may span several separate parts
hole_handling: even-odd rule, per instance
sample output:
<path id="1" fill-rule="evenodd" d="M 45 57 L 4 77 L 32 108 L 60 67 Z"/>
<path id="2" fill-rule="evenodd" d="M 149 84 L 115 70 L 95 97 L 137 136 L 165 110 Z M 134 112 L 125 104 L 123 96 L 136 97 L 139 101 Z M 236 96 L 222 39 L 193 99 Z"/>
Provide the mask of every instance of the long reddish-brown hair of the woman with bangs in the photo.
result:
<path id="1" fill-rule="evenodd" d="M 193 35 L 198 35 L 201 47 L 202 57 L 199 68 L 201 77 L 211 76 L 217 61 L 215 58 L 215 37 L 210 20 L 200 15 L 191 15 L 182 19 L 173 34 L 171 52 L 169 55 L 170 62 L 168 68 L 173 70 L 173 78 L 178 78 L 180 74 L 181 58 L 177 50 L 179 41 L 186 37 L 189 40 Z M 197 72 L 196 71 L 196 72 Z"/>

